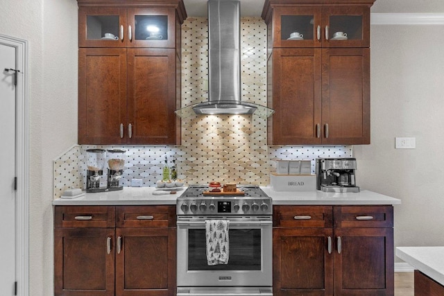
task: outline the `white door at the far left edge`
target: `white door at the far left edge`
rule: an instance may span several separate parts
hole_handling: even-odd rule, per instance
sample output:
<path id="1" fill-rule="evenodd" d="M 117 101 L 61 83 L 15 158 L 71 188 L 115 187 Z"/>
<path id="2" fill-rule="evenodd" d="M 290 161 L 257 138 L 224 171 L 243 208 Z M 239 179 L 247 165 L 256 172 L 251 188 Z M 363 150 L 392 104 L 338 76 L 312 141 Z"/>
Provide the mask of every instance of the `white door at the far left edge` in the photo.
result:
<path id="1" fill-rule="evenodd" d="M 15 47 L 0 44 L 0 295 L 15 295 Z M 17 81 L 19 82 L 19 81 Z"/>

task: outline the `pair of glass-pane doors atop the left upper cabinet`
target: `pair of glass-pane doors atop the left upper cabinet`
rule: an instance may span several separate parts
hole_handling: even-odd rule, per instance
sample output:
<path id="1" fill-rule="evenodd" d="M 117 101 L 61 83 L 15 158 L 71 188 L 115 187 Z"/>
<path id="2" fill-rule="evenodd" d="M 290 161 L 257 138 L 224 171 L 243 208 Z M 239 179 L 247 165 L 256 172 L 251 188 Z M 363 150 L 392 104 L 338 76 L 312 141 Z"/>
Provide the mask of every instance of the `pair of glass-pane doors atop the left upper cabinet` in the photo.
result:
<path id="1" fill-rule="evenodd" d="M 176 46 L 174 8 L 82 7 L 78 17 L 80 47 Z"/>

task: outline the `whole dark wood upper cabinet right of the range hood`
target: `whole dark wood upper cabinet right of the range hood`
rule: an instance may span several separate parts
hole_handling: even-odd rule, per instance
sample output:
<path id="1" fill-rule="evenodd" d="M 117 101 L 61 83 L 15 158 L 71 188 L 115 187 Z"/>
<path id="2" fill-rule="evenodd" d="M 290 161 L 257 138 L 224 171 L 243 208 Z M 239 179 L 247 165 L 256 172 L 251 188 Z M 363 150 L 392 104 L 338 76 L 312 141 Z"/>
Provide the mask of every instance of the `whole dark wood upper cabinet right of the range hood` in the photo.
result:
<path id="1" fill-rule="evenodd" d="M 268 144 L 370 143 L 373 0 L 328 4 L 266 1 Z"/>

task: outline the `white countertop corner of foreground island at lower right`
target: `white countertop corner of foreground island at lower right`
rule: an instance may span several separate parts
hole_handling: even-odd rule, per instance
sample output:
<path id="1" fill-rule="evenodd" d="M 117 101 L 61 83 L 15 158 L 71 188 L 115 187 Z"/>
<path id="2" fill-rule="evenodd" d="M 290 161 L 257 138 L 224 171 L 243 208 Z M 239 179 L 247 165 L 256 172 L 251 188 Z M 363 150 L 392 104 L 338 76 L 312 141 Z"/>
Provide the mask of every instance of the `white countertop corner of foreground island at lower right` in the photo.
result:
<path id="1" fill-rule="evenodd" d="M 444 247 L 396 247 L 395 254 L 444 286 Z"/>

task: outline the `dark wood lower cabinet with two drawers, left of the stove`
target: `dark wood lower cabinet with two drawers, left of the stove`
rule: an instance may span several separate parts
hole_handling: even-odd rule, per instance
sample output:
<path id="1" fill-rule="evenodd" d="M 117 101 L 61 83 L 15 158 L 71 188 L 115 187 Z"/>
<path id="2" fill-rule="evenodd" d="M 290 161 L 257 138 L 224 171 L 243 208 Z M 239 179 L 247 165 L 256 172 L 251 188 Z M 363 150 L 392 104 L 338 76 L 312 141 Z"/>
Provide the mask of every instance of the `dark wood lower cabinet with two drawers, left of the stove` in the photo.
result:
<path id="1" fill-rule="evenodd" d="M 176 207 L 60 206 L 54 295 L 176 295 Z"/>

